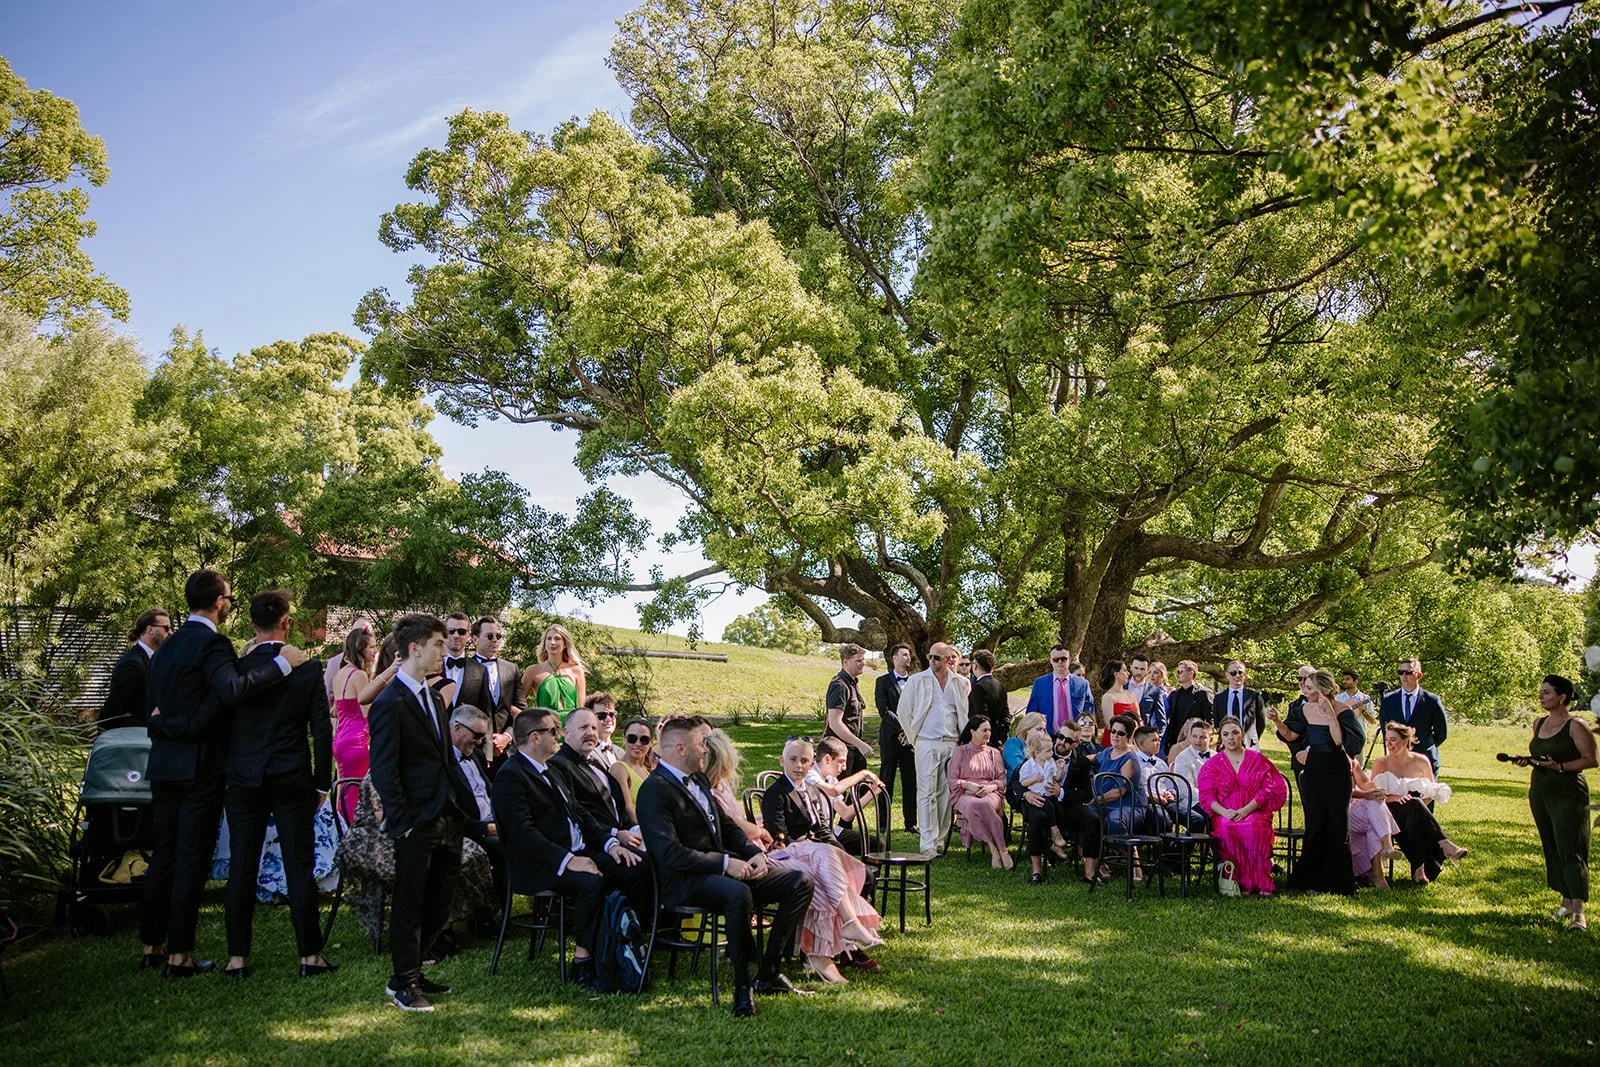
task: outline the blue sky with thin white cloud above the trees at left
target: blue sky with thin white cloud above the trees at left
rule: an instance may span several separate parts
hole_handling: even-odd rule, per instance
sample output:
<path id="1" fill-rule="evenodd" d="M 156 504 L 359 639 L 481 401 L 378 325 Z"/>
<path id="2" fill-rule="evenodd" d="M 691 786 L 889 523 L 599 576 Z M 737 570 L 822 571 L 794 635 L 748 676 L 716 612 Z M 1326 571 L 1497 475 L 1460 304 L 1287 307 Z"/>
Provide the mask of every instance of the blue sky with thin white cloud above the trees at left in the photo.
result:
<path id="1" fill-rule="evenodd" d="M 106 139 L 112 178 L 91 190 L 96 266 L 133 301 L 130 333 L 158 354 L 176 323 L 232 355 L 322 330 L 357 333 L 355 302 L 405 288 L 410 259 L 378 242 L 408 198 L 405 168 L 443 142 L 461 107 L 549 131 L 595 109 L 627 118 L 605 66 L 621 0 L 442 5 L 414 0 L 6 5 L 0 43 L 32 88 L 77 102 Z M 498 467 L 539 504 L 586 491 L 571 435 L 435 419 L 451 474 Z M 666 531 L 682 512 L 654 482 L 613 483 Z M 669 573 L 698 553 L 640 560 Z M 704 617 L 722 633 L 758 592 Z M 630 601 L 589 611 L 637 624 Z"/>

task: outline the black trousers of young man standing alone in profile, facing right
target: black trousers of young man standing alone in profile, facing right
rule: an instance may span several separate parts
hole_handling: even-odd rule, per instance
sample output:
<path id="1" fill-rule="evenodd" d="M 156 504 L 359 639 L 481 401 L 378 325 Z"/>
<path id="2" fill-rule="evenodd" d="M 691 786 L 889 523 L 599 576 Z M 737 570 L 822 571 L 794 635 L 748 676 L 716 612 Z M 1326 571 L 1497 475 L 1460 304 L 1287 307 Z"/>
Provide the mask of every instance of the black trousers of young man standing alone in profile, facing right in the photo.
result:
<path id="1" fill-rule="evenodd" d="M 450 902 L 461 877 L 459 819 L 440 816 L 395 840 L 395 888 L 389 905 L 394 989 L 422 977 L 422 949 L 450 923 Z"/>

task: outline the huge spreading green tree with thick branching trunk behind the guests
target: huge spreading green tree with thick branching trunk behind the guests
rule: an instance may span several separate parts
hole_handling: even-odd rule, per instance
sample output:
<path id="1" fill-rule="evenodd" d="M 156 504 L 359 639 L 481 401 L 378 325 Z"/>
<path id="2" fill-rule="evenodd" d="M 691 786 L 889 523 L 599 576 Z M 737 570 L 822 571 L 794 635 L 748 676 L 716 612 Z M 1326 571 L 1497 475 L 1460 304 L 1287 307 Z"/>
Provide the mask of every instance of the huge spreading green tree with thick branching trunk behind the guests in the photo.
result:
<path id="1" fill-rule="evenodd" d="M 712 579 L 878 648 L 1293 632 L 1437 549 L 1474 354 L 1435 261 L 1485 179 L 1416 174 L 1477 106 L 1426 40 L 1515 38 L 1408 10 L 1382 69 L 1288 70 L 1198 32 L 1226 6 L 651 0 L 634 131 L 464 112 L 416 157 L 381 235 L 430 262 L 363 366 L 682 490 L 712 566 L 667 614 Z"/>

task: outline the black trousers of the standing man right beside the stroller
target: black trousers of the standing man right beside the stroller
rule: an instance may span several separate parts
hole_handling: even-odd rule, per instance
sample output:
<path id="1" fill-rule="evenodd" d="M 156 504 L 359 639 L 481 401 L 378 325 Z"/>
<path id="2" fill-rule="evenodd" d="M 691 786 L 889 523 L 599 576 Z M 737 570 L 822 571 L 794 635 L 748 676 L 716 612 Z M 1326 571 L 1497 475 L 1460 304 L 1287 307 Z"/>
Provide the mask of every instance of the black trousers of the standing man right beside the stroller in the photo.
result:
<path id="1" fill-rule="evenodd" d="M 222 777 L 150 782 L 155 846 L 144 875 L 139 941 L 166 944 L 170 955 L 194 952 L 200 894 L 211 873 L 222 821 Z"/>

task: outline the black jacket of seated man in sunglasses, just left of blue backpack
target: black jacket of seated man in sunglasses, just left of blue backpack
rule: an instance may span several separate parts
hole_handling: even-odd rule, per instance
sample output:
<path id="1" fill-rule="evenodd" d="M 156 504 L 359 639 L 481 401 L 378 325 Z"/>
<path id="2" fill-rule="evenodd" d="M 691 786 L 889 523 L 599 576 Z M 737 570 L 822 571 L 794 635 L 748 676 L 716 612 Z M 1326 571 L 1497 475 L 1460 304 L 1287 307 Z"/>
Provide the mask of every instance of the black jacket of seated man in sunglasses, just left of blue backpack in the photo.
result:
<path id="1" fill-rule="evenodd" d="M 550 776 L 560 771 L 549 768 Z M 565 781 L 565 779 L 562 779 Z M 571 853 L 571 822 L 584 838 L 584 853 L 600 854 L 611 832 L 590 819 L 576 803 L 547 782 L 522 753 L 514 752 L 494 776 L 494 829 L 499 830 L 506 861 L 520 877 L 518 888 L 544 893 L 555 885 L 557 869 Z"/>

